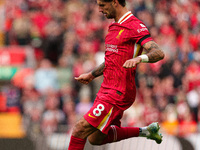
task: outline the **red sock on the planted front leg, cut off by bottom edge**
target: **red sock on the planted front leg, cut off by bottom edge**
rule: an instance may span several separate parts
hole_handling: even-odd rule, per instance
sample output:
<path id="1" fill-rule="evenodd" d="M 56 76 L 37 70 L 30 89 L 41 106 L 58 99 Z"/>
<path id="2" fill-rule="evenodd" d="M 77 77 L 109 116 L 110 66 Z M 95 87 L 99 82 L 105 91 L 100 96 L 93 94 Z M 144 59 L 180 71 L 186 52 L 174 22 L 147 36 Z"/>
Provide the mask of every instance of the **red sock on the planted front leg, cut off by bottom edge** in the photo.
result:
<path id="1" fill-rule="evenodd" d="M 86 139 L 80 139 L 74 136 L 71 136 L 68 150 L 83 150 L 86 143 Z"/>

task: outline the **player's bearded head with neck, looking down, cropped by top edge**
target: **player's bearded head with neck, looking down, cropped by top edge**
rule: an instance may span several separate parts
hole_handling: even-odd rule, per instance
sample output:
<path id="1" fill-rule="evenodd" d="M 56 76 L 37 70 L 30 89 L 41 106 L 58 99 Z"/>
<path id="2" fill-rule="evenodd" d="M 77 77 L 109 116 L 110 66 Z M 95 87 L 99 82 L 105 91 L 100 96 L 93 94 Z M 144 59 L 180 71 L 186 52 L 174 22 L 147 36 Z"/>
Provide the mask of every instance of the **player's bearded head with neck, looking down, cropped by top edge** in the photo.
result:
<path id="1" fill-rule="evenodd" d="M 97 0 L 99 12 L 102 12 L 108 19 L 116 17 L 117 6 L 125 7 L 125 0 Z"/>

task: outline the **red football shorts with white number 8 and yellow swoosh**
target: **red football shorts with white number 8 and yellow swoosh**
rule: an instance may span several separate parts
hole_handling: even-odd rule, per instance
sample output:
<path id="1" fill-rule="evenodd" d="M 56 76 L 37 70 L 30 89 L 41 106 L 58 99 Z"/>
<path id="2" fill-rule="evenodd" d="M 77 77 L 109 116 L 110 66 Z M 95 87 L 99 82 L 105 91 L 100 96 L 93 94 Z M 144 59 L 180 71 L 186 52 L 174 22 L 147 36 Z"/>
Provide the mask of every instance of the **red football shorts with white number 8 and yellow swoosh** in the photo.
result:
<path id="1" fill-rule="evenodd" d="M 102 133 L 108 134 L 111 125 L 121 126 L 123 110 L 107 102 L 95 101 L 93 107 L 84 115 L 84 118 L 93 127 Z"/>

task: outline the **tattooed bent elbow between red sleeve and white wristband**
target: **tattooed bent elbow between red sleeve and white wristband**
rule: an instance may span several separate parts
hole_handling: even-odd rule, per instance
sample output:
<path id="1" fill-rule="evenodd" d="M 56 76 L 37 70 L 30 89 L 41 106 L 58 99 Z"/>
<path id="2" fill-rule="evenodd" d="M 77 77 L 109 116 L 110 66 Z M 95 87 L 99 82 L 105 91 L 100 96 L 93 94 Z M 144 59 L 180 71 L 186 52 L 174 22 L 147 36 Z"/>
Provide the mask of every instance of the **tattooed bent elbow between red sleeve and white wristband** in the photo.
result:
<path id="1" fill-rule="evenodd" d="M 164 58 L 163 51 L 154 41 L 149 41 L 143 45 L 143 48 L 147 51 L 147 56 L 149 57 L 149 62 L 157 62 Z"/>

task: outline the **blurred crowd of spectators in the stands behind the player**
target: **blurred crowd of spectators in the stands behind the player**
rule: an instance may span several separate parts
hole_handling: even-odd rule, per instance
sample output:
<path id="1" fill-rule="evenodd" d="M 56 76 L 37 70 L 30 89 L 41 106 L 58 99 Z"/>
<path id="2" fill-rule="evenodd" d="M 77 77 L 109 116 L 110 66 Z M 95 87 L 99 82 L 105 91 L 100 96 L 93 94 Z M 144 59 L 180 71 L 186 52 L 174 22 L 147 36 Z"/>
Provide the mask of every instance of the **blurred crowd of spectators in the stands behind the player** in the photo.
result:
<path id="1" fill-rule="evenodd" d="M 165 59 L 139 64 L 137 97 L 122 125 L 158 121 L 163 132 L 186 136 L 200 131 L 200 1 L 127 0 L 148 27 Z M 2 2 L 1 2 L 2 3 Z M 2 7 L 4 6 L 4 7 Z M 89 110 L 103 77 L 81 85 L 74 77 L 104 61 L 104 37 L 113 20 L 95 0 L 5 0 L 1 4 L 2 46 L 30 46 L 36 66 L 17 88 L 27 129 L 49 135 Z M 9 96 L 9 92 L 7 92 Z"/>

